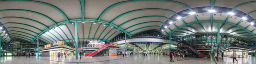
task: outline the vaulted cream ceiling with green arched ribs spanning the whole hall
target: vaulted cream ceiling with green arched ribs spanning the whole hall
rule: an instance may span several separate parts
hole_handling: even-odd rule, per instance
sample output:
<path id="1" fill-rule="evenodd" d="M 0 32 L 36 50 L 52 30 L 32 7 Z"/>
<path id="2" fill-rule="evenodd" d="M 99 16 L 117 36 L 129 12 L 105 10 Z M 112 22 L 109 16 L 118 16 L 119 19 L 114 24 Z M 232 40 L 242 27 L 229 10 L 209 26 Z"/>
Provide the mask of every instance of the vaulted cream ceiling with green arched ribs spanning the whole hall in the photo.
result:
<path id="1" fill-rule="evenodd" d="M 162 34 L 184 36 L 216 32 L 241 34 L 255 40 L 254 0 L 1 0 L 1 40 L 46 43 L 64 40 L 73 45 L 73 22 L 78 22 L 78 38 L 109 42 L 120 33 L 132 36 L 145 30 L 163 30 Z M 200 9 L 199 7 L 202 7 Z M 221 11 L 220 8 L 229 10 Z M 204 12 L 200 10 L 216 10 Z M 196 14 L 188 14 L 188 12 Z M 242 12 L 230 15 L 227 12 Z M 180 19 L 176 17 L 181 16 Z M 250 18 L 242 20 L 242 17 Z M 252 20 L 253 19 L 253 20 Z M 250 21 L 249 21 L 250 20 Z M 252 20 L 252 21 L 251 21 Z M 172 24 L 169 24 L 173 21 Z M 165 28 L 165 26 L 168 26 Z M 227 31 L 226 31 L 227 30 Z M 240 31 L 236 31 L 240 30 Z M 3 32 L 5 31 L 5 32 Z M 185 33 L 184 33 L 185 32 Z"/>

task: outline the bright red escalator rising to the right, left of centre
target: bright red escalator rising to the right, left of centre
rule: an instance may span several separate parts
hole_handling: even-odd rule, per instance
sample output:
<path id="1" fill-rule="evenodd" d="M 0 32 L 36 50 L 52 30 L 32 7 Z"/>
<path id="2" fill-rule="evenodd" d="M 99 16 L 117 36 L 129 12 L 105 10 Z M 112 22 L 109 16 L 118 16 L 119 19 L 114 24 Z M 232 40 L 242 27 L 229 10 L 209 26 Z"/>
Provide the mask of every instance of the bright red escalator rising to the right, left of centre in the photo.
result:
<path id="1" fill-rule="evenodd" d="M 109 46 L 114 46 L 115 44 L 107 44 L 101 48 L 99 48 L 98 50 L 95 50 L 94 52 L 92 52 L 91 54 L 85 54 L 85 56 L 89 56 L 89 57 L 94 57 L 94 56 L 101 56 L 102 54 L 104 54 L 105 52 L 107 52 L 109 50 Z"/>

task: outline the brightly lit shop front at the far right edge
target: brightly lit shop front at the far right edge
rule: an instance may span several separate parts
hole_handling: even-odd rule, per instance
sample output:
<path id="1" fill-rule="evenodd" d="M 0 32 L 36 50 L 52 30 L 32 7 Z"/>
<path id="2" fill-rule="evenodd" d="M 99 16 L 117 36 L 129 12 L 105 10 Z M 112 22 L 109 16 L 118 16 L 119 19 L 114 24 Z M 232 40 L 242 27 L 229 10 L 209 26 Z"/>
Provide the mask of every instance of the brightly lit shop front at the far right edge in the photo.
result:
<path id="1" fill-rule="evenodd" d="M 224 57 L 233 57 L 234 51 L 236 51 L 236 57 L 237 58 L 243 58 L 243 57 L 252 57 L 254 50 L 246 49 L 246 48 L 238 48 L 238 47 L 229 47 L 224 50 L 221 50 L 221 52 L 224 53 Z"/>

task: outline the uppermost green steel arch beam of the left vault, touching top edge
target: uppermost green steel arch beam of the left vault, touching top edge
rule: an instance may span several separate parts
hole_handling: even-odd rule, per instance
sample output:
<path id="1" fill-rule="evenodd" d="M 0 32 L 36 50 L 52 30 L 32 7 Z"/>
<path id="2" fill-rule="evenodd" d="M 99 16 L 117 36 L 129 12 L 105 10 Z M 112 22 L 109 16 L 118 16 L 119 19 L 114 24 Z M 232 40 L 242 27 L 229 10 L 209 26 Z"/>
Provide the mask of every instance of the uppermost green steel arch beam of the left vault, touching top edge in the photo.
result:
<path id="1" fill-rule="evenodd" d="M 66 14 L 64 12 L 62 12 L 62 10 L 60 10 L 59 8 L 57 8 L 56 6 L 53 6 L 51 4 L 48 4 L 48 3 L 45 3 L 45 2 L 39 2 L 39 1 L 32 1 L 32 0 L 2 0 L 0 2 L 14 2 L 14 1 L 21 1 L 21 2 L 34 2 L 34 3 L 39 3 L 39 4 L 44 4 L 44 5 L 47 5 L 47 6 L 50 6 L 56 10 L 58 10 L 58 12 L 60 12 L 65 18 L 66 18 L 66 21 L 69 21 L 68 20 L 68 17 L 66 16 Z"/>

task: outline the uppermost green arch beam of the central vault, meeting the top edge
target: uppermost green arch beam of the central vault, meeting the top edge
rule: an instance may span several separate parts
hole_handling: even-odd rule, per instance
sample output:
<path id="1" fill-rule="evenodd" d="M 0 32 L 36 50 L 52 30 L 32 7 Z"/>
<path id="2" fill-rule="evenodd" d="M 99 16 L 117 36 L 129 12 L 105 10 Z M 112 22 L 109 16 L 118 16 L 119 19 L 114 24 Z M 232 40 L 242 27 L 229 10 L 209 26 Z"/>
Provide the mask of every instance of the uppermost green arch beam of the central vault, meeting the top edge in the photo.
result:
<path id="1" fill-rule="evenodd" d="M 136 1 L 147 1 L 147 0 L 129 0 L 129 1 L 123 1 L 123 2 L 119 2 L 119 3 L 113 4 L 113 5 L 109 6 L 108 8 L 106 8 L 106 9 L 100 14 L 100 16 L 99 16 L 97 22 L 100 22 L 101 17 L 102 17 L 108 10 L 110 10 L 111 8 L 113 8 L 114 6 L 117 6 L 117 5 L 120 5 L 120 4 L 124 4 L 124 3 L 128 3 L 128 2 L 136 2 Z M 155 0 L 155 1 L 165 1 L 165 2 L 173 2 L 173 3 L 181 4 L 181 5 L 183 5 L 183 6 L 186 6 L 190 11 L 192 11 L 192 9 L 191 9 L 188 5 L 186 5 L 186 4 L 184 4 L 184 3 L 181 3 L 181 2 L 172 1 L 172 0 Z"/>

